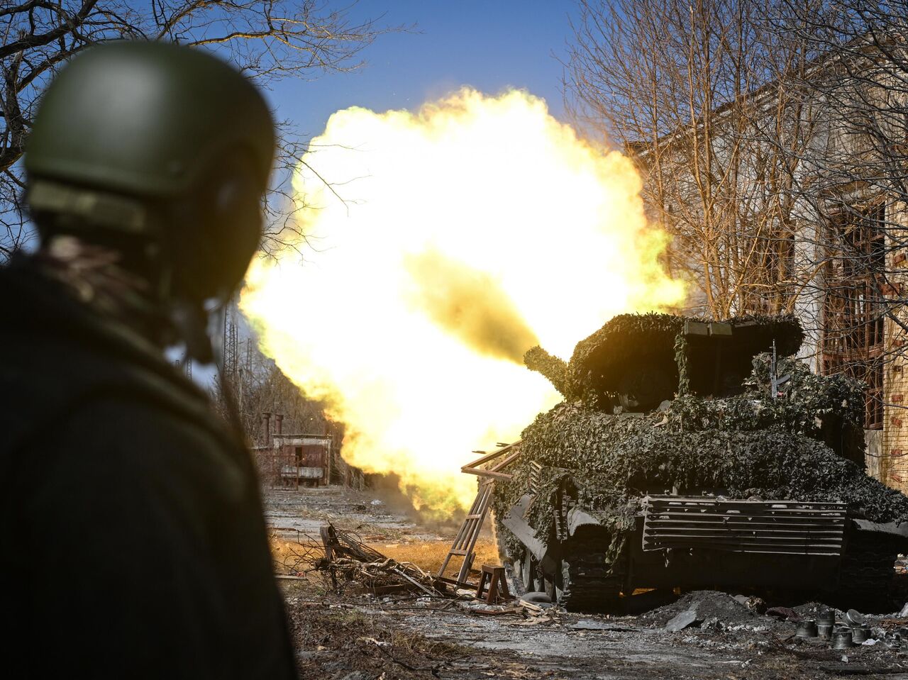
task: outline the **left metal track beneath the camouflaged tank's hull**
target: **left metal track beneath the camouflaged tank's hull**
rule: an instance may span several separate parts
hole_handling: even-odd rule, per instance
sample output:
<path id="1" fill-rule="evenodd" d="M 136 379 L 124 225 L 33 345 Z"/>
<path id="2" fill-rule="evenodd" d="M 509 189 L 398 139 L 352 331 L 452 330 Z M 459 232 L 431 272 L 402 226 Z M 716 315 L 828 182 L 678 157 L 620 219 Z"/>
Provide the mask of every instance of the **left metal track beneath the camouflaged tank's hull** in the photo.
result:
<path id="1" fill-rule="evenodd" d="M 563 544 L 558 604 L 568 611 L 617 607 L 627 577 L 627 550 L 610 565 L 602 544 L 603 539 L 595 535 L 572 538 Z"/>

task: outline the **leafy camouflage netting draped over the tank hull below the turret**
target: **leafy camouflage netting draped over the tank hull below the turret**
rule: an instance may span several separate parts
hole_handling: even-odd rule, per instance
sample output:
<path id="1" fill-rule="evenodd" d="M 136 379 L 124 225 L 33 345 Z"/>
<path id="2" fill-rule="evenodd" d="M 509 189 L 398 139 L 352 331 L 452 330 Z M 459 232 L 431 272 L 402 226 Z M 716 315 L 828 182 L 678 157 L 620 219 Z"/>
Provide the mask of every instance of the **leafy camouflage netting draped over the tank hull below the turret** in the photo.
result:
<path id="1" fill-rule="evenodd" d="M 540 414 L 524 430 L 520 456 L 508 468 L 514 479 L 499 483 L 498 517 L 524 493 L 533 461 L 543 466 L 539 499 L 528 517 L 537 536 L 548 540 L 554 527 L 552 504 L 542 499 L 574 483 L 585 489 L 584 505 L 614 529 L 613 557 L 640 498 L 673 488 L 718 488 L 728 498 L 842 500 L 875 522 L 908 519 L 908 498 L 819 440 L 825 414 L 856 425 L 860 437 L 860 385 L 819 378 L 795 360 L 782 361 L 779 369 L 791 374 L 787 398 L 768 399 L 769 358 L 757 357 L 755 366 L 752 391 L 740 397 L 684 397 L 648 415 L 616 416 L 579 402 Z M 862 451 L 863 441 L 850 446 Z"/>

